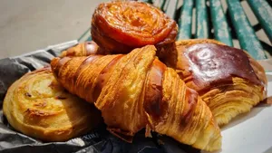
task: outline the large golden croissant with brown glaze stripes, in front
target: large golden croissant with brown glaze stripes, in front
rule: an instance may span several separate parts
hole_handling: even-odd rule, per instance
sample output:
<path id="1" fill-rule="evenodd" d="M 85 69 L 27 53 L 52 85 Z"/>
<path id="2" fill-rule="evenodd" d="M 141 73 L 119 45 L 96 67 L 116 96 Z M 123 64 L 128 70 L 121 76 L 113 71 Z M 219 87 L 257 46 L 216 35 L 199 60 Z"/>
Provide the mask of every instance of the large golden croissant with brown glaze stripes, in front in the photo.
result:
<path id="1" fill-rule="evenodd" d="M 146 128 L 192 145 L 216 150 L 221 135 L 196 91 L 166 67 L 152 45 L 126 55 L 54 58 L 53 74 L 63 87 L 94 103 L 112 134 L 132 140 Z"/>

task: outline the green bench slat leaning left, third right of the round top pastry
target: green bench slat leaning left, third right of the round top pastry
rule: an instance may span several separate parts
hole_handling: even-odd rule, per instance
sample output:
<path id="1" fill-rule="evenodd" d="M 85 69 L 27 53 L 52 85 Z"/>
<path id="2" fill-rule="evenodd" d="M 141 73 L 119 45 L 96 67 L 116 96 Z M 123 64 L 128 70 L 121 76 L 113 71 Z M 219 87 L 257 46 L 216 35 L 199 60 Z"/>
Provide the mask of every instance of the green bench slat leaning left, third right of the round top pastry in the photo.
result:
<path id="1" fill-rule="evenodd" d="M 226 43 L 228 46 L 233 46 L 231 34 L 228 30 L 227 19 L 220 0 L 209 0 L 209 5 L 216 40 Z"/>

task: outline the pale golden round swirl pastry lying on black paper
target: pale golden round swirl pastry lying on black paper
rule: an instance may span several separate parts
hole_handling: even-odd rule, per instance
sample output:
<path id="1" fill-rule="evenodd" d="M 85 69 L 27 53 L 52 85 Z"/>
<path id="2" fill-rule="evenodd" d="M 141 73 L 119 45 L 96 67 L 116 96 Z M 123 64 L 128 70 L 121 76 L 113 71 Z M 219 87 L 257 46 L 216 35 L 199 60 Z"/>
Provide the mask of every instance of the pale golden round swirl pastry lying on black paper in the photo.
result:
<path id="1" fill-rule="evenodd" d="M 65 141 L 96 127 L 101 113 L 64 91 L 50 68 L 26 73 L 8 89 L 3 110 L 18 131 L 44 141 Z"/>

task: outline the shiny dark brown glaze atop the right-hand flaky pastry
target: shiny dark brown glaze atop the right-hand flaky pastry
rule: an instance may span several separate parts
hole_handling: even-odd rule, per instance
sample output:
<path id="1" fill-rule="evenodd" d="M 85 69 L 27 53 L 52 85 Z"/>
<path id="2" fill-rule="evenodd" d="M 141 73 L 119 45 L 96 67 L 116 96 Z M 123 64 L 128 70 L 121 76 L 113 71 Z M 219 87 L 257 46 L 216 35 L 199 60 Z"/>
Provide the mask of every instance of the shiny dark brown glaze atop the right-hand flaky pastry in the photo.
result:
<path id="1" fill-rule="evenodd" d="M 232 76 L 260 84 L 244 51 L 226 45 L 199 43 L 184 52 L 189 59 L 193 81 L 204 89 L 219 82 L 232 83 Z"/>

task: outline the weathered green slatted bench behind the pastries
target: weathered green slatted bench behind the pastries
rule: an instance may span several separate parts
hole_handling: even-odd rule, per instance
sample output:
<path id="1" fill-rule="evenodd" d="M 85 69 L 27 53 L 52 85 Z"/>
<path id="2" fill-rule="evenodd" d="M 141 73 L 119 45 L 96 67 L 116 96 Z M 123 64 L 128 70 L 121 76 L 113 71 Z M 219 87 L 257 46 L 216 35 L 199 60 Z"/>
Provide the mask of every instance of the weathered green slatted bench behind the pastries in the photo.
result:
<path id="1" fill-rule="evenodd" d="M 247 0 L 259 24 L 252 26 L 248 21 L 241 1 L 222 0 L 228 5 L 224 13 L 220 0 L 141 0 L 159 7 L 175 19 L 179 24 L 177 40 L 193 38 L 216 39 L 233 46 L 237 39 L 241 49 L 248 51 L 256 60 L 264 60 L 271 56 L 272 47 L 257 39 L 256 31 L 264 29 L 272 43 L 272 8 L 270 0 Z M 208 5 L 209 3 L 209 5 Z M 196 9 L 196 33 L 192 33 L 193 8 Z M 79 42 L 92 40 L 90 29 L 79 38 Z"/>

